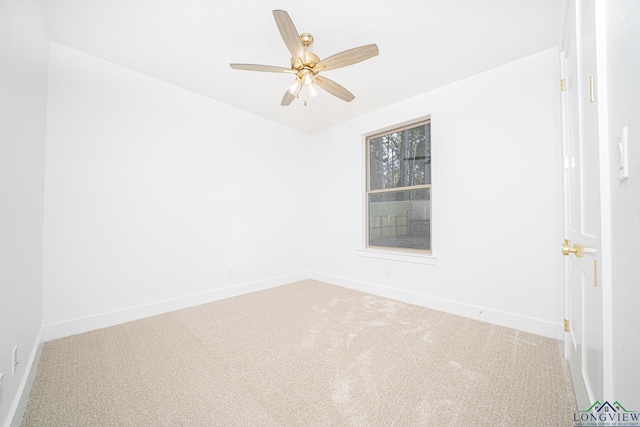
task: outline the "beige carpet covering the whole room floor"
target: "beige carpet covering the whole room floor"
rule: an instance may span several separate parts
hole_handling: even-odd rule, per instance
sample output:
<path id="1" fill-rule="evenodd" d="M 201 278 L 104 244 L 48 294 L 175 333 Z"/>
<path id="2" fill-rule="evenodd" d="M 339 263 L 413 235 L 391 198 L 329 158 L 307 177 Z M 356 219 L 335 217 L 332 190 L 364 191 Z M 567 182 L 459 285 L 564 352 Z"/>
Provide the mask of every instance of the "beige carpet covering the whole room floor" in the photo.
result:
<path id="1" fill-rule="evenodd" d="M 556 340 L 315 281 L 45 344 L 23 426 L 570 426 Z"/>

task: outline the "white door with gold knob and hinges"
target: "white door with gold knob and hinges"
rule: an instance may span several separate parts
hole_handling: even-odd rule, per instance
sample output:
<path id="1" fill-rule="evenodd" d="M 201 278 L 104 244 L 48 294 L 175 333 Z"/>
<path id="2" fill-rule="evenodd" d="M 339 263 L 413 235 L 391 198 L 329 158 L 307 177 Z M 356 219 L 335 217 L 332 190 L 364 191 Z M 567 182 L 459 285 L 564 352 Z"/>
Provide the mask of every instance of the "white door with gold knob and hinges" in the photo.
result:
<path id="1" fill-rule="evenodd" d="M 603 401 L 601 207 L 594 0 L 565 1 L 561 65 L 565 238 L 565 356 L 585 410 Z M 560 243 L 560 242 L 559 242 Z"/>

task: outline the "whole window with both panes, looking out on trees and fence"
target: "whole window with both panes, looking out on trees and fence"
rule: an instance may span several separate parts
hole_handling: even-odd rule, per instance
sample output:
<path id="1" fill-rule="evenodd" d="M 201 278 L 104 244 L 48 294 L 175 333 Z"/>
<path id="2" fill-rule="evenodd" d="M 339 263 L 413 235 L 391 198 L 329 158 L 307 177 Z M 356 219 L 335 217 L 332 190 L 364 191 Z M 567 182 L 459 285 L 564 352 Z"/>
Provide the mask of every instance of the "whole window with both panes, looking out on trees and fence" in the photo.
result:
<path id="1" fill-rule="evenodd" d="M 367 247 L 431 253 L 431 121 L 366 138 Z"/>

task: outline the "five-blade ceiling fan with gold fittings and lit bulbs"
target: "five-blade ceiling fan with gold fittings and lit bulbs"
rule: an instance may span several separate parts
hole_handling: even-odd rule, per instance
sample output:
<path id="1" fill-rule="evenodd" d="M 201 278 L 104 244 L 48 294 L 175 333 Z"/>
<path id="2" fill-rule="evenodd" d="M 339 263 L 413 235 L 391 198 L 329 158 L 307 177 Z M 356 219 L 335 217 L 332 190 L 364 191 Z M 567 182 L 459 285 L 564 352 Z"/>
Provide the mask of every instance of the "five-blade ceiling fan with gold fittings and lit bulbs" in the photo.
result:
<path id="1" fill-rule="evenodd" d="M 286 11 L 274 10 L 273 17 L 276 20 L 276 25 L 284 40 L 284 44 L 289 49 L 289 52 L 291 52 L 291 68 L 273 65 L 230 64 L 231 68 L 236 70 L 295 74 L 295 80 L 289 90 L 284 93 L 282 102 L 280 103 L 281 105 L 286 106 L 291 104 L 294 99 L 299 97 L 303 89 L 305 91 L 304 105 L 307 105 L 306 97 L 312 98 L 315 96 L 316 86 L 344 101 L 352 101 L 355 96 L 351 92 L 333 80 L 320 76 L 319 73 L 321 71 L 346 67 L 347 65 L 356 64 L 365 59 L 372 58 L 378 54 L 378 46 L 375 44 L 360 46 L 336 53 L 321 60 L 316 54 L 308 50 L 311 43 L 313 43 L 313 36 L 309 33 L 299 34 Z"/>

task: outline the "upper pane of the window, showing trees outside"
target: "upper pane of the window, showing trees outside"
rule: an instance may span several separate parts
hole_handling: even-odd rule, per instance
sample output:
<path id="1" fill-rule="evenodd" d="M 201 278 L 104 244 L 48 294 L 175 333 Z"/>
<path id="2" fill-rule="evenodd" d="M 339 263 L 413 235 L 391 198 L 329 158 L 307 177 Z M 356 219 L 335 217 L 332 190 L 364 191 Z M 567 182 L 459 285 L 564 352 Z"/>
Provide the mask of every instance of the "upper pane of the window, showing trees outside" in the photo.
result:
<path id="1" fill-rule="evenodd" d="M 369 189 L 431 184 L 430 123 L 369 139 Z"/>

